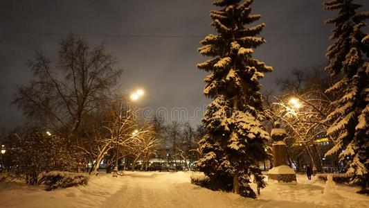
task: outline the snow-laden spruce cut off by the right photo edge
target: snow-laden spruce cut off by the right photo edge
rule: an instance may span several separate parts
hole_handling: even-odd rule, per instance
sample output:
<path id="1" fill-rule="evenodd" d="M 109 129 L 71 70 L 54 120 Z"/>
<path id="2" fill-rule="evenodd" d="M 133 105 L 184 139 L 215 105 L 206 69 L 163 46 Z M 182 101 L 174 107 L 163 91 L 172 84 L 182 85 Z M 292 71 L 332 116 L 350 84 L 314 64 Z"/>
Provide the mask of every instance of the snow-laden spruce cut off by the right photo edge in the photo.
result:
<path id="1" fill-rule="evenodd" d="M 325 10 L 339 10 L 339 15 L 327 19 L 334 24 L 328 47 L 330 63 L 325 69 L 336 79 L 326 92 L 335 97 L 334 106 L 326 121 L 335 146 L 326 155 L 339 153 L 339 159 L 348 163 L 350 183 L 359 184 L 362 191 L 369 188 L 369 45 L 361 32 L 369 12 L 357 12 L 361 5 L 352 0 L 334 0 L 324 3 Z"/>

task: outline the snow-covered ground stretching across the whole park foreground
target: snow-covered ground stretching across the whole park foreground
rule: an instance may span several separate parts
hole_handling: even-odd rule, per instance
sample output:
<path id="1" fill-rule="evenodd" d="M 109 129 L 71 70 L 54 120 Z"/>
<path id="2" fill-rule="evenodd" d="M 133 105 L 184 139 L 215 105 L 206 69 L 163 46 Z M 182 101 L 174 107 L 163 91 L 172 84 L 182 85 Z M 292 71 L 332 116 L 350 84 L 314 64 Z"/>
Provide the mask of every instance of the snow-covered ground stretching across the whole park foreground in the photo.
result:
<path id="1" fill-rule="evenodd" d="M 297 185 L 269 184 L 252 200 L 190 184 L 191 173 L 125 172 L 100 174 L 85 187 L 43 191 L 40 187 L 0 182 L 0 207 L 368 207 L 369 196 L 337 185 L 324 195 L 325 184 L 298 175 Z"/>

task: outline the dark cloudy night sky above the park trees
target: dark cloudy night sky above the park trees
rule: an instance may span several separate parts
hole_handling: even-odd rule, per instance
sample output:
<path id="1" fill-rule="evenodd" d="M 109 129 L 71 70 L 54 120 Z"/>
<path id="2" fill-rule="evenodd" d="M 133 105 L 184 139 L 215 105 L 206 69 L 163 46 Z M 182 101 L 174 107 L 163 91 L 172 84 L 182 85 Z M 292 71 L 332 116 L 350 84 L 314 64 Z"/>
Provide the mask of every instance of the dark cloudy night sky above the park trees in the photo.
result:
<path id="1" fill-rule="evenodd" d="M 22 121 L 21 113 L 9 103 L 15 86 L 30 79 L 26 61 L 36 50 L 53 57 L 63 37 L 57 34 L 70 32 L 91 35 L 86 37 L 91 44 L 106 44 L 118 67 L 124 69 L 120 89 L 129 92 L 143 87 L 147 92 L 137 105 L 168 110 L 186 107 L 192 116 L 195 107 L 208 103 L 201 93 L 206 74 L 195 65 L 204 60 L 196 51 L 201 40 L 196 36 L 213 33 L 208 15 L 211 2 L 0 0 L 0 126 L 10 128 Z M 264 89 L 275 88 L 276 78 L 288 76 L 294 68 L 325 64 L 331 26 L 323 21 L 334 13 L 322 10 L 322 1 L 255 0 L 253 12 L 262 14 L 260 22 L 267 24 L 262 32 L 267 44 L 256 49 L 255 57 L 274 68 L 262 81 Z M 94 36 L 99 34 L 132 37 Z M 191 122 L 200 120 L 197 116 Z"/>

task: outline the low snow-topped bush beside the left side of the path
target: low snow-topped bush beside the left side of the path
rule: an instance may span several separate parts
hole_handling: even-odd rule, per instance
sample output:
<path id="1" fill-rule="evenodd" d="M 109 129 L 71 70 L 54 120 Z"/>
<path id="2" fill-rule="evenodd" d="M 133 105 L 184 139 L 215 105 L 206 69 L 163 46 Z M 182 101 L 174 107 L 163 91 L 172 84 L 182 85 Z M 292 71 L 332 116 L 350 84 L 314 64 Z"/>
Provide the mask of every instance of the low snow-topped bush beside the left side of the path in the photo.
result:
<path id="1" fill-rule="evenodd" d="M 46 191 L 57 188 L 77 187 L 89 182 L 89 175 L 85 173 L 71 173 L 63 171 L 51 171 L 44 174 L 39 182 L 46 185 Z"/>

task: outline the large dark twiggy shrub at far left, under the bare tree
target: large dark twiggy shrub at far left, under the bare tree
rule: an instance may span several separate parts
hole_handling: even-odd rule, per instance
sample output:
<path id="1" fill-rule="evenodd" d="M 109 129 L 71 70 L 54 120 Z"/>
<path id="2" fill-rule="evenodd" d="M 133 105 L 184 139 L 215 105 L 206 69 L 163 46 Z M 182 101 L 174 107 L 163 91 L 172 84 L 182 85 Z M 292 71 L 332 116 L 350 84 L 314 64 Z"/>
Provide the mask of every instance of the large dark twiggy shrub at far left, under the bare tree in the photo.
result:
<path id="1" fill-rule="evenodd" d="M 74 171 L 78 157 L 67 145 L 67 139 L 33 127 L 15 132 L 4 141 L 7 150 L 2 155 L 2 164 L 9 173 L 33 185 L 39 184 L 40 173 Z"/>

